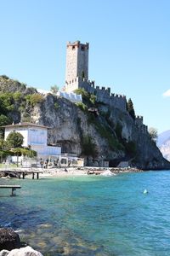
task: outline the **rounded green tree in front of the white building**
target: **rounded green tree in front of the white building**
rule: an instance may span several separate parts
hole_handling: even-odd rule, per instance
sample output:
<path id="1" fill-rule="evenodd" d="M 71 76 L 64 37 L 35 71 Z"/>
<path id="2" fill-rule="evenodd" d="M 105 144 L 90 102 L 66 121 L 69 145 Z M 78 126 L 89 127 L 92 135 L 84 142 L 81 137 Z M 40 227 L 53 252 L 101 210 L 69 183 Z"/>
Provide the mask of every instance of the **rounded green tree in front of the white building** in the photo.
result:
<path id="1" fill-rule="evenodd" d="M 6 141 L 9 148 L 20 148 L 24 142 L 24 137 L 20 132 L 11 131 Z"/>

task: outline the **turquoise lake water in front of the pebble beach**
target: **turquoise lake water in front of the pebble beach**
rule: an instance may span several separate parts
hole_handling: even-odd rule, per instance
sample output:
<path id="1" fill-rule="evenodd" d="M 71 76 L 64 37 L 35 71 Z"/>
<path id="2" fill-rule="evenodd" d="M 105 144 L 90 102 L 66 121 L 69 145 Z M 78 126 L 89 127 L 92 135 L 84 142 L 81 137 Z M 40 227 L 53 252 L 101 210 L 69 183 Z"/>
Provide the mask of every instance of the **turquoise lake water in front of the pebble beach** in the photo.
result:
<path id="1" fill-rule="evenodd" d="M 0 225 L 44 255 L 170 255 L 169 181 L 169 171 L 1 179 L 22 189 L 0 190 Z"/>

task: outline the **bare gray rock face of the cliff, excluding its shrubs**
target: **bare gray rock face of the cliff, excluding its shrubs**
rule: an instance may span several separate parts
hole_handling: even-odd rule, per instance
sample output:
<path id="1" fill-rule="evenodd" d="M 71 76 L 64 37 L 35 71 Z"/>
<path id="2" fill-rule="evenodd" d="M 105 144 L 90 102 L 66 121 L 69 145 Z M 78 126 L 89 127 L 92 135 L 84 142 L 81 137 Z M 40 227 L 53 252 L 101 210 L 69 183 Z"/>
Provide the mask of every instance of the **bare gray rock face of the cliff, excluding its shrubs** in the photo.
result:
<path id="1" fill-rule="evenodd" d="M 102 156 L 103 159 L 117 162 L 129 160 L 133 166 L 142 169 L 170 169 L 170 164 L 162 157 L 156 143 L 150 140 L 149 133 L 135 125 L 127 112 L 106 104 L 98 109 L 99 116 L 94 116 L 65 98 L 48 94 L 41 105 L 32 108 L 31 119 L 34 123 L 52 128 L 48 131 L 48 143 L 59 143 L 63 152 L 81 155 L 82 137 L 91 137 L 98 153 L 95 159 L 88 157 L 91 165 L 93 162 L 95 165 L 101 163 Z M 110 113 L 107 120 L 101 114 L 104 112 Z M 117 124 L 122 127 L 120 136 L 116 132 Z M 107 137 L 107 131 L 112 137 Z M 115 141 L 115 148 L 111 141 Z M 122 141 L 135 144 L 135 155 L 128 154 Z"/>

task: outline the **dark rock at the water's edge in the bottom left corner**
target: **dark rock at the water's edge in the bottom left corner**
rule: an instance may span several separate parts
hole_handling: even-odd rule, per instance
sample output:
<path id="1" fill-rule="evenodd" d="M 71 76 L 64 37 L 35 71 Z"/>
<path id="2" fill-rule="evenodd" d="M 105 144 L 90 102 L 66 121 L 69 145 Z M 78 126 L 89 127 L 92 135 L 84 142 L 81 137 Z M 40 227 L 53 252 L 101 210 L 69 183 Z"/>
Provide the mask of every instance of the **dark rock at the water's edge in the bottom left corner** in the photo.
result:
<path id="1" fill-rule="evenodd" d="M 20 247 L 20 237 L 11 228 L 0 229 L 0 250 Z"/>

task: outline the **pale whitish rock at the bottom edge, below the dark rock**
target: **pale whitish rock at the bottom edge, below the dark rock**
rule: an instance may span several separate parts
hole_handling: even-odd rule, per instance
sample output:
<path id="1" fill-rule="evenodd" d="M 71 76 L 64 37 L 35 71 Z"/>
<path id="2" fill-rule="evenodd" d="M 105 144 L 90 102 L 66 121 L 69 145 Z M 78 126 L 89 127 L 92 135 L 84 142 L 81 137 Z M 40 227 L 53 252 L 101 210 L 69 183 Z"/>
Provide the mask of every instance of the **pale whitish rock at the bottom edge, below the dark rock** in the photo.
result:
<path id="1" fill-rule="evenodd" d="M 14 249 L 12 251 L 3 250 L 0 252 L 0 256 L 43 256 L 42 253 L 37 252 L 31 247 L 22 247 L 20 249 Z"/>

